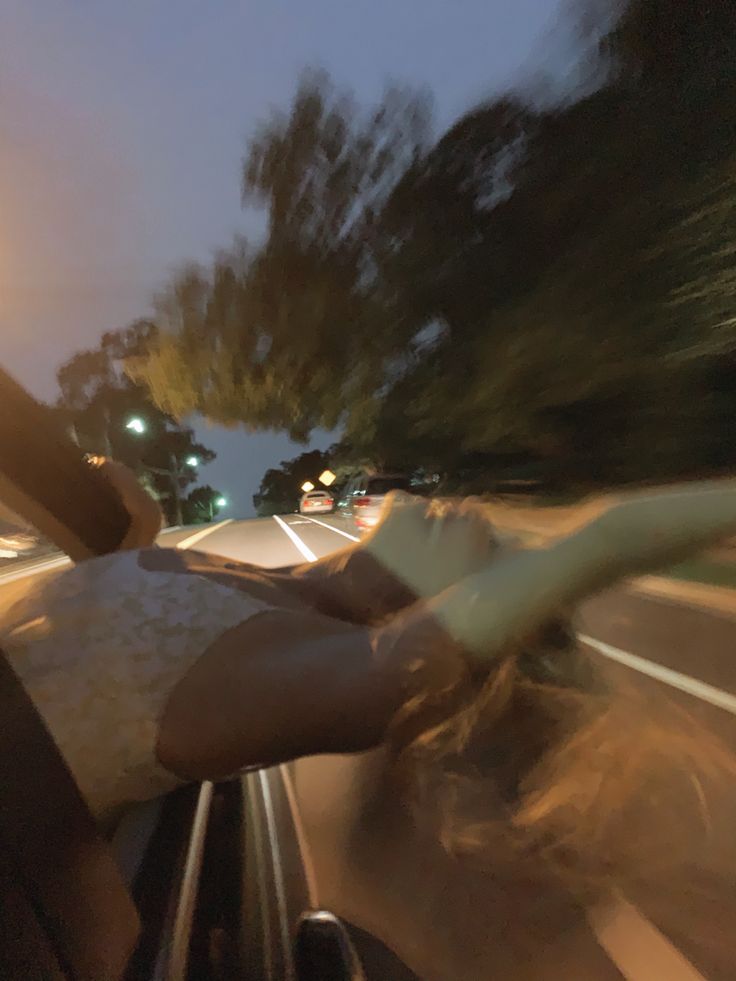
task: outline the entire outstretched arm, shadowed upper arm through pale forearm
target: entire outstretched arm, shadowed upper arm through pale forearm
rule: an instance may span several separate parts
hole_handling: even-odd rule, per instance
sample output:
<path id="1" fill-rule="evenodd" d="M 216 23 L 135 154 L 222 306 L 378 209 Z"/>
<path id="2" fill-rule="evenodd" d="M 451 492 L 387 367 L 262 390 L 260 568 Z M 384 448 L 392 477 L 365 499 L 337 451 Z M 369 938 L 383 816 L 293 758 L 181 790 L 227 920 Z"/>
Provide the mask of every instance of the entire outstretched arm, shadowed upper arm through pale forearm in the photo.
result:
<path id="1" fill-rule="evenodd" d="M 561 608 L 736 531 L 736 484 L 637 497 L 548 549 L 479 573 L 366 629 L 272 611 L 222 636 L 172 693 L 159 758 L 188 778 L 380 743 L 414 699 L 448 713 L 471 673 Z M 414 717 L 422 724 L 422 714 Z"/>

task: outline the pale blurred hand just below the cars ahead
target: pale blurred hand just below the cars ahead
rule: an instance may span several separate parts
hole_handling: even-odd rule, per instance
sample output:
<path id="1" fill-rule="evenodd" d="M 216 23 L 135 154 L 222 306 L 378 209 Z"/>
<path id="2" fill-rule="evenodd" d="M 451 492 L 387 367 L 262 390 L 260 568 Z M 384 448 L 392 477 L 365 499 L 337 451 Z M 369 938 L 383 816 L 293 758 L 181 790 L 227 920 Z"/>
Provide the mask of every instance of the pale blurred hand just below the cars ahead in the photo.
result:
<path id="1" fill-rule="evenodd" d="M 422 599 L 484 568 L 499 540 L 477 500 L 426 500 L 397 491 L 360 549 Z"/>

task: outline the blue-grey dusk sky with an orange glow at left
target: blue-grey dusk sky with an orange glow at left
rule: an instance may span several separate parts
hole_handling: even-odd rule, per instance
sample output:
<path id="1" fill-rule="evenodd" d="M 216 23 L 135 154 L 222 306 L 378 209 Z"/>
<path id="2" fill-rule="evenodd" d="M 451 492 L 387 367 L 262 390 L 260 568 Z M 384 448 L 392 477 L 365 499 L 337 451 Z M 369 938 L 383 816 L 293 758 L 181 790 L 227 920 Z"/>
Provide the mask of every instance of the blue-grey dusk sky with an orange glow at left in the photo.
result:
<path id="1" fill-rule="evenodd" d="M 104 330 L 150 309 L 186 259 L 257 222 L 239 162 L 306 66 L 361 100 L 426 85 L 441 129 L 541 65 L 562 70 L 559 0 L 2 0 L 1 360 L 35 394 Z M 252 513 L 278 434 L 200 427 L 202 480 Z M 316 445 L 327 437 L 318 434 Z"/>

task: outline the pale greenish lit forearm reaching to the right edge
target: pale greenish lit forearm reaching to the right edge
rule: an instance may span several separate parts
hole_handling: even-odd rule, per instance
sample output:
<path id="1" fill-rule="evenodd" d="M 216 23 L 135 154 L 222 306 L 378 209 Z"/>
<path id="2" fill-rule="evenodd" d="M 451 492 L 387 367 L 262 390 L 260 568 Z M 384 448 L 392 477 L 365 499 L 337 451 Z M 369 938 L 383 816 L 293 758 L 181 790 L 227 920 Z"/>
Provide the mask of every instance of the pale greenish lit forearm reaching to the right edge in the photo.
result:
<path id="1" fill-rule="evenodd" d="M 548 548 L 520 549 L 490 563 L 429 609 L 466 649 L 491 657 L 555 611 L 681 562 L 734 532 L 734 480 L 630 495 Z"/>

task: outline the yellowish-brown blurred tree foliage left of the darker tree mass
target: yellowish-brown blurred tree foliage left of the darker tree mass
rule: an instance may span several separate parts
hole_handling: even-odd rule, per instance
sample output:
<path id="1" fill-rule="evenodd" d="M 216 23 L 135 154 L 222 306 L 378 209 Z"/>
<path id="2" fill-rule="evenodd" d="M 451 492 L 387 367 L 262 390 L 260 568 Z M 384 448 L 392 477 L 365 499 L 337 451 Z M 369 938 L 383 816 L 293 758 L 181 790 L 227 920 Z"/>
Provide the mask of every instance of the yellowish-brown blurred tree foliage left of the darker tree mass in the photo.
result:
<path id="1" fill-rule="evenodd" d="M 390 89 L 360 113 L 326 76 L 305 75 L 243 164 L 243 200 L 267 212 L 265 243 L 180 274 L 159 303 L 156 342 L 131 361 L 165 411 L 300 441 L 370 413 L 411 334 L 387 315 L 380 215 L 425 147 L 428 117 L 414 93 Z"/>

